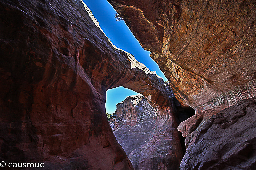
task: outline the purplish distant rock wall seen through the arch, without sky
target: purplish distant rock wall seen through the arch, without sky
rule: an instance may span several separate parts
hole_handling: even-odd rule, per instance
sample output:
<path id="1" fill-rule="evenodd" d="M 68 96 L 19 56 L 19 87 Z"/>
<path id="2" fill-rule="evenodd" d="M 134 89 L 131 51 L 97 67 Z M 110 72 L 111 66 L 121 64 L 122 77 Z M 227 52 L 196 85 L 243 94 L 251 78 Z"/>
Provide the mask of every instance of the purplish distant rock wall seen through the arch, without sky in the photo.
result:
<path id="1" fill-rule="evenodd" d="M 124 102 L 117 104 L 116 119 L 113 122 L 116 139 L 124 148 L 134 169 L 157 168 L 157 164 L 148 164 L 146 167 L 141 165 L 148 159 L 154 158 L 157 161 L 157 156 L 163 155 L 147 150 L 147 145 L 154 145 L 148 142 L 156 130 L 156 113 L 148 101 L 142 95 L 128 96 Z M 158 150 L 165 154 L 168 152 L 163 146 L 158 146 Z"/>

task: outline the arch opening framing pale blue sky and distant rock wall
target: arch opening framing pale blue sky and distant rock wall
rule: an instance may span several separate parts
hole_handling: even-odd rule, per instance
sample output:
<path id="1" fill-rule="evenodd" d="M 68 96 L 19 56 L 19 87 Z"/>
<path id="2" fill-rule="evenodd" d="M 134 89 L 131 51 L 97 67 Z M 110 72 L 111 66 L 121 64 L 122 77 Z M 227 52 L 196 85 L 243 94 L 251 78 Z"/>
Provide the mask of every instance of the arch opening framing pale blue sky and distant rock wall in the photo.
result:
<path id="1" fill-rule="evenodd" d="M 114 135 L 129 156 L 147 141 L 150 129 L 143 129 L 142 123 L 152 129 L 153 124 L 148 118 L 155 117 L 154 109 L 143 95 L 121 86 L 107 91 L 106 113 L 110 112 L 113 112 L 109 123 Z"/>

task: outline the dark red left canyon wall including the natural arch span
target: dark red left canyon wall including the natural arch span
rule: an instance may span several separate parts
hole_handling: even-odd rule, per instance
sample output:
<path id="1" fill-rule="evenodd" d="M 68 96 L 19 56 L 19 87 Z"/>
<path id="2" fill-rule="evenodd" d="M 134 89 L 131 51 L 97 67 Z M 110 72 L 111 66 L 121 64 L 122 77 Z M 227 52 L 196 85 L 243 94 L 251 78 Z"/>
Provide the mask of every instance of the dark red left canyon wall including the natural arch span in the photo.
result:
<path id="1" fill-rule="evenodd" d="M 1 161 L 133 169 L 105 112 L 106 90 L 120 85 L 146 97 L 180 149 L 163 80 L 113 46 L 81 1 L 4 0 L 0 25 Z M 180 162 L 177 150 L 164 163 Z"/>

